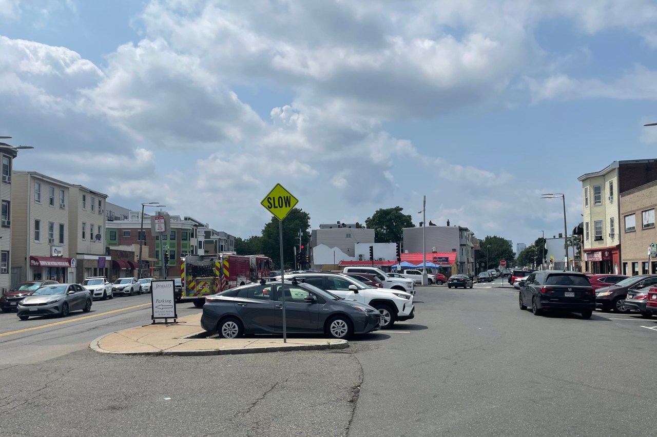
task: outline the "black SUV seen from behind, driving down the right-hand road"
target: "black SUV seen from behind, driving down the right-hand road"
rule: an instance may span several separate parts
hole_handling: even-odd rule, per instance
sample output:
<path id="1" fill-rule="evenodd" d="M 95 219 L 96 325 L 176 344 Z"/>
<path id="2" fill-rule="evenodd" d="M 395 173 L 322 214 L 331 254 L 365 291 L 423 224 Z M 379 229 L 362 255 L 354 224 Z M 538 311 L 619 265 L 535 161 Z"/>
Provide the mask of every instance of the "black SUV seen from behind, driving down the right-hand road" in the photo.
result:
<path id="1" fill-rule="evenodd" d="M 532 307 L 535 316 L 544 311 L 579 312 L 585 319 L 595 310 L 595 291 L 585 274 L 539 270 L 520 281 L 520 309 Z"/>

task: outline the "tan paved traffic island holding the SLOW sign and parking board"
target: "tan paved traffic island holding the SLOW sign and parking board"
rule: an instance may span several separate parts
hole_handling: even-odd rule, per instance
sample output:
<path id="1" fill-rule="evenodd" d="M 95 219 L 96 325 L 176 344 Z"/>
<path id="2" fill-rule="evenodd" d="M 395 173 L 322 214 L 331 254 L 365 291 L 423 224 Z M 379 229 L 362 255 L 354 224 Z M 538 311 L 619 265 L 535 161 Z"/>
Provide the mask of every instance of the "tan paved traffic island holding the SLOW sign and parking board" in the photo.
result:
<path id="1" fill-rule="evenodd" d="M 110 333 L 91 342 L 91 348 L 103 354 L 122 355 L 231 355 L 279 352 L 282 350 L 344 349 L 346 340 L 288 339 L 195 339 L 204 333 L 201 314 L 178 319 L 178 323 L 143 325 Z"/>

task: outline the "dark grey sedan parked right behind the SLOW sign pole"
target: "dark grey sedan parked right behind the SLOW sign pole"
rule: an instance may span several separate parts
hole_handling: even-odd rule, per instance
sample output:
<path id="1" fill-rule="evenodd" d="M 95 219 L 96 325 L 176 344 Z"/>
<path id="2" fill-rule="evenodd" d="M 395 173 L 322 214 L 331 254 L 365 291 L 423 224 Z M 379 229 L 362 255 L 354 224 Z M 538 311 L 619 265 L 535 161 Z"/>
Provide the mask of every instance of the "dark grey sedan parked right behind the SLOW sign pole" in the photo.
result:
<path id="1" fill-rule="evenodd" d="M 282 295 L 288 333 L 325 333 L 349 339 L 379 329 L 379 312 L 362 302 L 343 299 L 309 283 L 286 281 L 249 284 L 206 297 L 201 327 L 235 339 L 244 333 L 282 333 Z"/>

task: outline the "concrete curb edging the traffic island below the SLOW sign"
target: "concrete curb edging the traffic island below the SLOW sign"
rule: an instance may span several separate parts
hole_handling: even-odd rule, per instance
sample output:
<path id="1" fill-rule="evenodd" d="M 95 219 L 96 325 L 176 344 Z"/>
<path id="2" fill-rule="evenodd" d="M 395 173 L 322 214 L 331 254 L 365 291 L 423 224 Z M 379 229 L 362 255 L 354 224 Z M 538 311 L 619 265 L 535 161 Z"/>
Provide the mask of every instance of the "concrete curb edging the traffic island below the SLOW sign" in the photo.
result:
<path id="1" fill-rule="evenodd" d="M 262 354 L 266 352 L 284 352 L 288 350 L 324 350 L 324 349 L 346 349 L 349 343 L 346 340 L 338 340 L 333 344 L 287 344 L 284 346 L 266 346 L 255 348 L 226 348 L 226 349 L 200 349 L 200 350 L 153 350 L 150 352 L 113 352 L 104 350 L 99 346 L 99 342 L 108 335 L 116 332 L 101 335 L 89 344 L 91 350 L 101 354 L 112 355 L 150 355 L 150 356 L 208 356 L 208 355 L 240 355 L 240 354 Z"/>

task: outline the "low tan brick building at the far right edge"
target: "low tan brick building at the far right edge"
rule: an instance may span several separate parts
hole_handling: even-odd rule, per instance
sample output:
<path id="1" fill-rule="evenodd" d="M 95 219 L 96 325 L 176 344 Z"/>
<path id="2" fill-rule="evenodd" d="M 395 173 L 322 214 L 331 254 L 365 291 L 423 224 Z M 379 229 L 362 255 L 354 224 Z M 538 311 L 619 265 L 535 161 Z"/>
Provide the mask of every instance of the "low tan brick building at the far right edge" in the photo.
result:
<path id="1" fill-rule="evenodd" d="M 648 255 L 650 244 L 657 243 L 656 207 L 657 181 L 620 195 L 622 274 L 657 273 L 657 260 Z"/>

